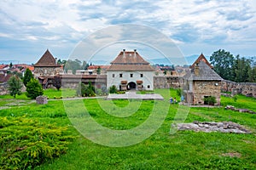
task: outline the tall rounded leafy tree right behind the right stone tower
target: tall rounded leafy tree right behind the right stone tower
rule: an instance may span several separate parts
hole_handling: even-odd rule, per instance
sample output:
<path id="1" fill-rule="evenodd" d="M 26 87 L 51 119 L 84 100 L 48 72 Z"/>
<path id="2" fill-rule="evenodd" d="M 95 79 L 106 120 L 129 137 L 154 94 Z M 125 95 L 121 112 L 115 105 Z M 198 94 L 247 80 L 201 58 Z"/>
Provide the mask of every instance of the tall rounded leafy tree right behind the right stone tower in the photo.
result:
<path id="1" fill-rule="evenodd" d="M 231 69 L 234 65 L 234 56 L 230 52 L 226 52 L 224 49 L 219 49 L 213 52 L 210 57 L 210 62 L 213 65 L 214 71 L 225 80 L 234 81 L 234 71 Z"/>

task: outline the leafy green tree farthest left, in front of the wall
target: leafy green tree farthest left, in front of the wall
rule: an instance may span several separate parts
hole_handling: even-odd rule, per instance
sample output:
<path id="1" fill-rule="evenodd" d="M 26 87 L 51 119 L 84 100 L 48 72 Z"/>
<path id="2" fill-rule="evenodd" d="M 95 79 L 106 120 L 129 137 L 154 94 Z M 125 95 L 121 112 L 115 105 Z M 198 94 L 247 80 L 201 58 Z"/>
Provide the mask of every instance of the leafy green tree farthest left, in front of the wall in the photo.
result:
<path id="1" fill-rule="evenodd" d="M 21 88 L 22 88 L 22 82 L 20 80 L 20 77 L 17 76 L 12 76 L 9 78 L 8 81 L 8 85 L 9 85 L 9 94 L 11 96 L 14 96 L 14 98 L 16 97 L 16 94 L 20 95 L 21 94 Z"/>

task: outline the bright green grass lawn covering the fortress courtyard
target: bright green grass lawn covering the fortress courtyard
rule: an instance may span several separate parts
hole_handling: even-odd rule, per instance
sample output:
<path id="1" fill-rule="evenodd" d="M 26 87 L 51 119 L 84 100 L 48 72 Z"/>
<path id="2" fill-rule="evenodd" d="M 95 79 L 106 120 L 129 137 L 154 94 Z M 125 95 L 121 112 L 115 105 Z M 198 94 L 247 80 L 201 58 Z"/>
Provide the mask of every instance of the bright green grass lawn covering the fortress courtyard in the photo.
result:
<path id="1" fill-rule="evenodd" d="M 70 91 L 72 94 L 74 91 Z M 164 101 L 83 99 L 51 100 L 47 105 L 27 102 L 0 110 L 3 117 L 21 117 L 37 120 L 59 127 L 69 127 L 73 135 L 79 132 L 73 127 L 66 111 L 70 107 L 73 116 L 82 120 L 84 111 L 79 103 L 103 127 L 124 130 L 146 122 L 154 105 L 159 105 L 159 114 L 169 107 L 170 94 L 177 98 L 176 90 L 156 89 Z M 49 98 L 61 96 L 60 92 L 47 90 Z M 24 99 L 21 98 L 20 99 Z M 8 96 L 0 97 L 1 105 L 9 103 Z M 178 100 L 178 98 L 177 98 Z M 29 99 L 28 99 L 29 101 Z M 222 97 L 222 105 L 234 105 L 255 111 L 255 99 L 238 96 L 237 101 Z M 64 107 L 65 106 L 65 107 Z M 135 108 L 135 109 L 134 109 Z M 143 142 L 126 147 L 108 147 L 91 142 L 79 135 L 68 145 L 67 153 L 44 162 L 36 169 L 255 169 L 256 168 L 256 116 L 220 108 L 191 108 L 185 122 L 232 121 L 250 128 L 252 134 L 195 133 L 179 131 L 170 135 L 170 125 L 178 105 L 170 105 L 165 121 L 160 128 Z M 136 110 L 136 111 L 135 111 Z M 119 113 L 126 113 L 117 117 Z M 109 114 L 110 113 L 110 114 Z M 113 116 L 116 114 L 115 116 Z M 69 115 L 70 116 L 70 115 Z M 106 138 L 107 140 L 108 138 Z M 232 156 L 235 155 L 235 156 Z M 1 160 L 1 159 L 0 159 Z"/>

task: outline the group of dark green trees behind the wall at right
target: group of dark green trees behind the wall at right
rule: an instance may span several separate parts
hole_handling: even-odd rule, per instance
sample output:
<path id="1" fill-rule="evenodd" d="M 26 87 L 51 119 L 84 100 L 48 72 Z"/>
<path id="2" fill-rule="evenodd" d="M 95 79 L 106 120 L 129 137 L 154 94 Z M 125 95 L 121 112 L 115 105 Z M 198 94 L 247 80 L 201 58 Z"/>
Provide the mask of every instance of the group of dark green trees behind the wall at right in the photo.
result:
<path id="1" fill-rule="evenodd" d="M 224 49 L 219 49 L 210 57 L 214 71 L 225 80 L 233 82 L 256 82 L 256 60 L 234 56 Z"/>

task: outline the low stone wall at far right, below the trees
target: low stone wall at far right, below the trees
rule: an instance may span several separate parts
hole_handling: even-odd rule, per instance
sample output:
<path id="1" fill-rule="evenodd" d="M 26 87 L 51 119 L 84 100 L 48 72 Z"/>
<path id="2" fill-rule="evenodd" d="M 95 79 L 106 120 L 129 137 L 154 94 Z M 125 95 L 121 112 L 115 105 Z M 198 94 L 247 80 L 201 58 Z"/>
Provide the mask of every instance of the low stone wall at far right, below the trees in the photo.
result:
<path id="1" fill-rule="evenodd" d="M 256 98 L 256 82 L 231 82 L 222 81 L 221 90 L 231 92 L 232 95 L 243 94 L 247 97 Z"/>

